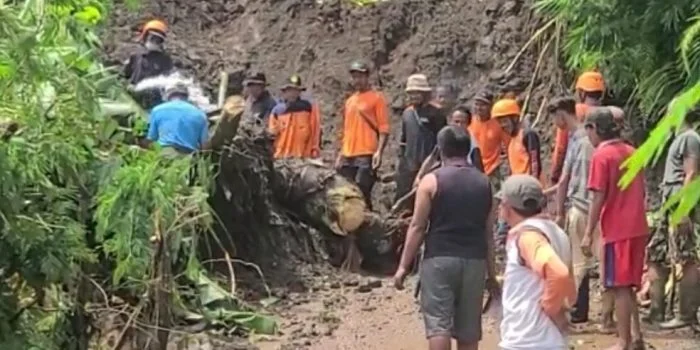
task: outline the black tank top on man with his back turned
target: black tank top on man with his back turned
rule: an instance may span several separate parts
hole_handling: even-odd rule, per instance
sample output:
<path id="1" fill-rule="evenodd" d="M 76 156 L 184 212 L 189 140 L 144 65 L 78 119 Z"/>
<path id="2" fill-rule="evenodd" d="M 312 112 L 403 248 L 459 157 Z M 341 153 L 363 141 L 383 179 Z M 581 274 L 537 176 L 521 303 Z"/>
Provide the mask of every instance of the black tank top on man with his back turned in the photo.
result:
<path id="1" fill-rule="evenodd" d="M 430 209 L 425 257 L 486 258 L 486 221 L 493 202 L 488 178 L 472 165 L 433 172 L 437 192 Z"/>

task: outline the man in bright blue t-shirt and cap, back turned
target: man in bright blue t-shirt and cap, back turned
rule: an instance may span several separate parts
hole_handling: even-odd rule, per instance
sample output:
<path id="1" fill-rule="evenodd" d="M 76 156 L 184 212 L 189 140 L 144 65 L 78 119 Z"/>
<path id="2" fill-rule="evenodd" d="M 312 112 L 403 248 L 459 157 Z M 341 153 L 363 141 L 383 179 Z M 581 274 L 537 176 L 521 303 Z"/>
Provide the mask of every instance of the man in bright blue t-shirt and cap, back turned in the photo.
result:
<path id="1" fill-rule="evenodd" d="M 209 139 L 207 115 L 187 101 L 187 86 L 177 83 L 165 91 L 167 102 L 149 116 L 146 146 L 157 142 L 167 155 L 191 154 L 206 148 Z"/>

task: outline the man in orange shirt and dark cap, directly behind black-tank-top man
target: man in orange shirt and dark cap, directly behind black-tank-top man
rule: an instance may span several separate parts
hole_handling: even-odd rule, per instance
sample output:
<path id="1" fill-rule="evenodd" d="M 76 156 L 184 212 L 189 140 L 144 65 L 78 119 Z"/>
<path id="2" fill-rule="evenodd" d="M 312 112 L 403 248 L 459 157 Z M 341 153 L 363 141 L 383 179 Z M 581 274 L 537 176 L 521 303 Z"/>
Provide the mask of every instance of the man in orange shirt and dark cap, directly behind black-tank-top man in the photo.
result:
<path id="1" fill-rule="evenodd" d="M 497 120 L 491 118 L 493 95 L 482 91 L 474 97 L 473 114 L 476 116 L 469 125 L 469 132 L 476 139 L 481 151 L 484 173 L 488 175 L 494 190 L 500 188 L 502 175 L 501 150 L 508 143 L 508 136 L 501 129 Z"/>

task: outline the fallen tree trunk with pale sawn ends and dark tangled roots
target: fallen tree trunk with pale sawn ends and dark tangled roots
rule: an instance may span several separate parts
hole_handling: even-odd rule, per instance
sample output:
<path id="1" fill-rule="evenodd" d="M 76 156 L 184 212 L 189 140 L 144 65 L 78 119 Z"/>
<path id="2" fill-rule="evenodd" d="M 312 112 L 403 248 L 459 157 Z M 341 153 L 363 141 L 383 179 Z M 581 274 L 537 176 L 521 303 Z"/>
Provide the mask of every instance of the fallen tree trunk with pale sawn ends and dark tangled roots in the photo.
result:
<path id="1" fill-rule="evenodd" d="M 405 216 L 368 212 L 357 185 L 320 161 L 273 160 L 273 140 L 245 115 L 240 97 L 229 97 L 223 109 L 212 137 L 218 172 L 211 203 L 231 256 L 275 270 L 294 265 L 289 259 L 338 266 L 352 264 L 357 247 L 363 267 L 393 268 Z"/>

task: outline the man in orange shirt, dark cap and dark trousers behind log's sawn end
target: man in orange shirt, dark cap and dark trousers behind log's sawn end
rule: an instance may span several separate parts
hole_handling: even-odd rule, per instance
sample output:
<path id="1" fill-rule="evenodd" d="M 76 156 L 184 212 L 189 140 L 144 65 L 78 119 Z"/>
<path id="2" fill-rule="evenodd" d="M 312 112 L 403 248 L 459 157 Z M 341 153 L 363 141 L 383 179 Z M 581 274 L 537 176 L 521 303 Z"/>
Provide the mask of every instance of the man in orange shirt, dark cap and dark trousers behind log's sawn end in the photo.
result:
<path id="1" fill-rule="evenodd" d="M 372 88 L 369 72 L 369 66 L 362 62 L 350 67 L 355 92 L 345 101 L 335 167 L 357 183 L 371 208 L 375 173 L 382 164 L 389 135 L 389 112 L 384 94 Z"/>

